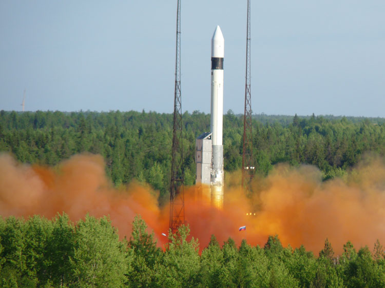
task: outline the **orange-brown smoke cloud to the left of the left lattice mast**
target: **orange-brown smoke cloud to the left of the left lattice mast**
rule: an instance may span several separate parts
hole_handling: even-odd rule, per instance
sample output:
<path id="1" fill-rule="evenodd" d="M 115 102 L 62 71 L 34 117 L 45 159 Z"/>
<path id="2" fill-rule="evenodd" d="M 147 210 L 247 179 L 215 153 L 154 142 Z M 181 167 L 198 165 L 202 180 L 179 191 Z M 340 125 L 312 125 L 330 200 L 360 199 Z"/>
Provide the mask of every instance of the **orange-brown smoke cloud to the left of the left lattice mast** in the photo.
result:
<path id="1" fill-rule="evenodd" d="M 141 214 L 149 231 L 167 231 L 162 221 L 157 193 L 136 182 L 117 190 L 105 175 L 99 155 L 76 155 L 55 168 L 17 163 L 10 155 L 0 155 L 0 215 L 47 218 L 67 213 L 78 221 L 87 213 L 109 215 L 121 236 L 130 235 L 136 214 Z"/>

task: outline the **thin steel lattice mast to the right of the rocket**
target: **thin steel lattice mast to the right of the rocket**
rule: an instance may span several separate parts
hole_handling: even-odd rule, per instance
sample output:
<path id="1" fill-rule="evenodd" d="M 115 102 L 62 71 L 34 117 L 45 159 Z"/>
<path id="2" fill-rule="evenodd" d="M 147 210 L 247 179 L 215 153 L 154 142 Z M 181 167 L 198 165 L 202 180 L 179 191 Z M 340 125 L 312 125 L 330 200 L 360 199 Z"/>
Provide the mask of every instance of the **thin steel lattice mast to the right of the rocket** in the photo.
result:
<path id="1" fill-rule="evenodd" d="M 252 133 L 252 94 L 250 72 L 250 0 L 247 0 L 247 36 L 246 36 L 246 85 L 245 113 L 243 118 L 243 156 L 242 156 L 242 187 L 248 185 L 254 176 L 253 165 L 253 133 Z"/>

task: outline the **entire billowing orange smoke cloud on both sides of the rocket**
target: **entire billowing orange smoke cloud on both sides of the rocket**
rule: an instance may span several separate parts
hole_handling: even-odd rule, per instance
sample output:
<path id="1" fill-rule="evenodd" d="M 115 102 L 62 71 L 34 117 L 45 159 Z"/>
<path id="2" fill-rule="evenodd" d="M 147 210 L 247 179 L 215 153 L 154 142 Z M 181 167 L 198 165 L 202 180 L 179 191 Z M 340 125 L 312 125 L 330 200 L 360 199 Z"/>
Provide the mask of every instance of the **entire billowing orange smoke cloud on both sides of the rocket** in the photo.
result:
<path id="1" fill-rule="evenodd" d="M 278 234 L 284 246 L 303 244 L 316 255 L 326 237 L 337 253 L 348 240 L 356 248 L 385 240 L 382 158 L 367 155 L 342 178 L 328 181 L 322 181 L 315 167 L 280 164 L 267 177 L 255 178 L 254 193 L 248 195 L 240 188 L 240 179 L 239 171 L 225 176 L 223 210 L 211 207 L 195 187 L 185 189 L 186 221 L 201 248 L 211 234 L 220 243 L 232 237 L 237 244 L 246 238 L 253 245 L 263 245 L 268 235 Z M 133 217 L 141 214 L 163 246 L 169 207 L 159 208 L 157 199 L 156 191 L 137 182 L 113 188 L 98 155 L 76 155 L 56 167 L 29 166 L 0 155 L 0 215 L 5 217 L 52 218 L 65 212 L 78 221 L 86 213 L 109 215 L 121 237 L 129 237 Z M 239 232 L 243 225 L 246 231 Z"/>

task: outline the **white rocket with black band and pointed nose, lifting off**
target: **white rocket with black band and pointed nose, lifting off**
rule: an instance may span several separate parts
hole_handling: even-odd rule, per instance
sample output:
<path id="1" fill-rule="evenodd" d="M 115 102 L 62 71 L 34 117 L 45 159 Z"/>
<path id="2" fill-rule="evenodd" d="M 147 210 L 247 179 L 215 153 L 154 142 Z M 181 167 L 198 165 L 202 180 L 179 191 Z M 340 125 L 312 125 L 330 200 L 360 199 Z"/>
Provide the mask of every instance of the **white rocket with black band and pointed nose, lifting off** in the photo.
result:
<path id="1" fill-rule="evenodd" d="M 224 38 L 221 28 L 217 26 L 211 39 L 211 203 L 223 207 L 223 58 Z"/>

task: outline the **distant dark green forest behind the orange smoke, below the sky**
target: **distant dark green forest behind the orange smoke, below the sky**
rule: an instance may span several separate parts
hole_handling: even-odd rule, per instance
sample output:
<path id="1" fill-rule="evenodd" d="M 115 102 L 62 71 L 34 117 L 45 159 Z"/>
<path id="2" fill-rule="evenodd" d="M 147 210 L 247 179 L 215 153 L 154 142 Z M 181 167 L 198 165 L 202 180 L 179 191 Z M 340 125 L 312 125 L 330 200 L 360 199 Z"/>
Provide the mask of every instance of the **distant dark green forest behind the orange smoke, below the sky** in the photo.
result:
<path id="1" fill-rule="evenodd" d="M 183 114 L 185 184 L 195 182 L 195 141 L 210 130 L 210 115 Z M 101 154 L 106 173 L 120 186 L 148 182 L 165 196 L 171 166 L 172 114 L 156 112 L 0 111 L 0 152 L 18 161 L 55 165 L 82 152 Z M 223 117 L 224 168 L 241 168 L 243 116 Z M 385 155 L 385 119 L 334 116 L 253 116 L 256 173 L 279 162 L 313 164 L 323 179 L 344 174 L 365 152 Z"/>

